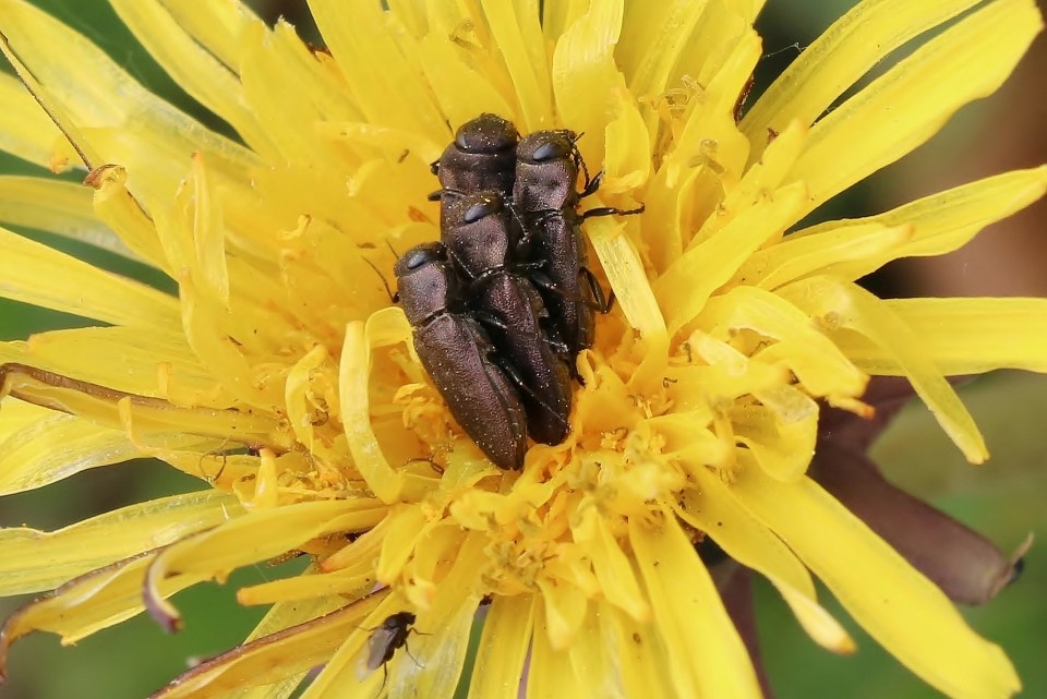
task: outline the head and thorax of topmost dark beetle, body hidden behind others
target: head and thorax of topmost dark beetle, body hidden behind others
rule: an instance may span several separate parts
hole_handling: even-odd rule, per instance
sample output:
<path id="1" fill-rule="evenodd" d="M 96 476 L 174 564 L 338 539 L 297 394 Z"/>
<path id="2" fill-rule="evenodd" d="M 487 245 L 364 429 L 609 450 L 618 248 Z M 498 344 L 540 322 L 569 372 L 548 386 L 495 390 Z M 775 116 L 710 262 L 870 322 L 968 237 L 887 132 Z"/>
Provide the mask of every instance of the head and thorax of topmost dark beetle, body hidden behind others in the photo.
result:
<path id="1" fill-rule="evenodd" d="M 434 197 L 446 203 L 448 197 L 442 194 L 454 196 L 484 190 L 509 196 L 519 140 L 513 122 L 496 115 L 480 115 L 464 123 L 455 133 L 455 141 L 433 164 L 433 174 L 443 188 Z"/>

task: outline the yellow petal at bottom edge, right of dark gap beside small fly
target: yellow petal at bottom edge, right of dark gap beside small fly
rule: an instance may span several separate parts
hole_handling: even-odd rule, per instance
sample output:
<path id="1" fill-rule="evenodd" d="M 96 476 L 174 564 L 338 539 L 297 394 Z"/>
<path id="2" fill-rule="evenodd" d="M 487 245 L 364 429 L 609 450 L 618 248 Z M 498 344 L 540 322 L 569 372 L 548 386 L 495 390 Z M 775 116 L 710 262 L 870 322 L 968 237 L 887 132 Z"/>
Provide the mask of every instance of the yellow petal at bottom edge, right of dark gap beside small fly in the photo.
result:
<path id="1" fill-rule="evenodd" d="M 532 608 L 529 594 L 494 599 L 483 623 L 469 699 L 517 699 L 532 634 Z"/>

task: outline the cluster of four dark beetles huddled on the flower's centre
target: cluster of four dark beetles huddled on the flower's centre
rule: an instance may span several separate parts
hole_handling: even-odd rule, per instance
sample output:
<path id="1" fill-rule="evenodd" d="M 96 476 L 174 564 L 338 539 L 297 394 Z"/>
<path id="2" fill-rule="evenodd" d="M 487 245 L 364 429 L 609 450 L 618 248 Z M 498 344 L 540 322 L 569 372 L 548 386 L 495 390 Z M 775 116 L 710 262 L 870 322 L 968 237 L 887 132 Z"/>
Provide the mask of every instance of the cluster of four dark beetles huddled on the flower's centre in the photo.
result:
<path id="1" fill-rule="evenodd" d="M 462 125 L 433 164 L 441 242 L 395 273 L 418 355 L 452 413 L 503 469 L 524 463 L 528 434 L 567 436 L 574 360 L 606 312 L 586 267 L 581 196 L 595 191 L 569 131 L 520 140 L 494 115 Z M 575 183 L 586 174 L 582 192 Z"/>

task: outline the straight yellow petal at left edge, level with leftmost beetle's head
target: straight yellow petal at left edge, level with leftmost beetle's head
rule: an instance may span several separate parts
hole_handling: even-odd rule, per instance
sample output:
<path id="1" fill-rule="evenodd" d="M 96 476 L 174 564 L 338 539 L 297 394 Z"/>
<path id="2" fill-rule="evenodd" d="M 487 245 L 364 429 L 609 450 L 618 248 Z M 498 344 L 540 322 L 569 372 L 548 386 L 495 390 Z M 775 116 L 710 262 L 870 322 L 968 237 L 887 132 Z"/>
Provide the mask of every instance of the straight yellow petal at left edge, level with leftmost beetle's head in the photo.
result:
<path id="1" fill-rule="evenodd" d="M 105 272 L 0 228 L 0 296 L 140 330 L 179 324 L 178 303 L 151 287 Z"/>

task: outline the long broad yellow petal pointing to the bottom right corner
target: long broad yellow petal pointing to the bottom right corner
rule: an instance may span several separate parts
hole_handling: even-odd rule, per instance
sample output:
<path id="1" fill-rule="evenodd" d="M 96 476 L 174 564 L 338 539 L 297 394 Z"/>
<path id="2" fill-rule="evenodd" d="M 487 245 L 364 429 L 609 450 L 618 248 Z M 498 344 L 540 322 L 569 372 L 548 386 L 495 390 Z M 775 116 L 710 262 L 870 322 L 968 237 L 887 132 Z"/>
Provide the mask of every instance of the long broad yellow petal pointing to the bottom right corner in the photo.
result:
<path id="1" fill-rule="evenodd" d="M 928 684 L 953 699 L 997 699 L 1021 688 L 1003 651 L 972 631 L 932 582 L 814 481 L 783 485 L 748 463 L 730 492 Z"/>

